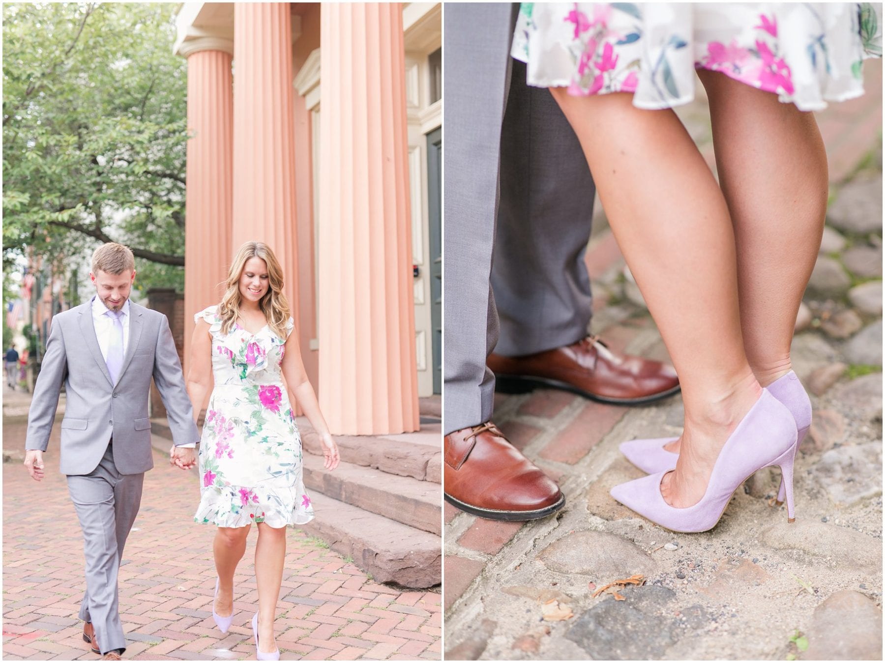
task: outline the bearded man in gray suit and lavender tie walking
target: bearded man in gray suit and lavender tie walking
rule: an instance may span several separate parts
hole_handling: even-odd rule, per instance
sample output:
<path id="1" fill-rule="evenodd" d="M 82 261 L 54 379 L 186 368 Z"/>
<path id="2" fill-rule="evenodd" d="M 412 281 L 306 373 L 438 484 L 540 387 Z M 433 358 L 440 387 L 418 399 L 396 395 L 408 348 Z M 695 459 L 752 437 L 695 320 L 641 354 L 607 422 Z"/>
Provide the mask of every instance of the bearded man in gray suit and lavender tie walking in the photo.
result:
<path id="1" fill-rule="evenodd" d="M 181 364 L 165 315 L 129 301 L 132 251 L 106 243 L 92 256 L 96 297 L 52 319 L 46 353 L 28 412 L 25 466 L 43 476 L 58 396 L 65 384 L 59 466 L 85 539 L 83 639 L 104 659 L 119 660 L 126 638 L 119 620 L 117 573 L 123 546 L 153 466 L 150 378 L 166 407 L 173 462 L 193 466 L 199 440 Z"/>

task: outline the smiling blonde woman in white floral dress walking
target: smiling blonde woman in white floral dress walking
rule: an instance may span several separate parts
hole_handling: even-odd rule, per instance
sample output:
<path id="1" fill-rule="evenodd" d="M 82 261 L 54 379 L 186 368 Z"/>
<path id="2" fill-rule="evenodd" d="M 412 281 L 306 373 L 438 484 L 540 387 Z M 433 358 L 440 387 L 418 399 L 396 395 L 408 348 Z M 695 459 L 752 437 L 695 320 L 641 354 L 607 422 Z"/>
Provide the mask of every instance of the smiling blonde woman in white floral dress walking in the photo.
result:
<path id="1" fill-rule="evenodd" d="M 215 382 L 200 443 L 201 500 L 195 516 L 197 522 L 218 527 L 212 613 L 222 632 L 227 632 L 234 610 L 234 572 L 255 523 L 258 613 L 252 625 L 259 659 L 279 658 L 273 618 L 286 557 L 286 526 L 313 518 L 311 498 L 302 482 L 301 437 L 293 402 L 301 405 L 322 438 L 326 469 L 335 469 L 339 462 L 337 446 L 304 373 L 282 287 L 283 274 L 273 251 L 264 243 L 243 244 L 227 276 L 221 304 L 194 316 L 188 374 L 188 394 L 197 413 L 212 377 Z M 181 459 L 181 464 L 189 460 Z"/>

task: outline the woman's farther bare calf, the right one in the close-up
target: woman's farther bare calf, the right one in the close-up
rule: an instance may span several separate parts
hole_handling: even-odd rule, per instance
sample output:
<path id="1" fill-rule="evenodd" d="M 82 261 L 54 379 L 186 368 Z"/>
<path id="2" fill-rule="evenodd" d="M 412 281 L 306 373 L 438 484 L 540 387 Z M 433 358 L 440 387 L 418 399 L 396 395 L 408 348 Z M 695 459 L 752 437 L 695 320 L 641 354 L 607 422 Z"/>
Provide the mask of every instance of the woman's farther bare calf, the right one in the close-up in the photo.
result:
<path id="1" fill-rule="evenodd" d="M 813 113 L 723 73 L 698 75 L 735 227 L 743 348 L 767 386 L 792 367 L 793 328 L 827 213 L 827 152 Z"/>

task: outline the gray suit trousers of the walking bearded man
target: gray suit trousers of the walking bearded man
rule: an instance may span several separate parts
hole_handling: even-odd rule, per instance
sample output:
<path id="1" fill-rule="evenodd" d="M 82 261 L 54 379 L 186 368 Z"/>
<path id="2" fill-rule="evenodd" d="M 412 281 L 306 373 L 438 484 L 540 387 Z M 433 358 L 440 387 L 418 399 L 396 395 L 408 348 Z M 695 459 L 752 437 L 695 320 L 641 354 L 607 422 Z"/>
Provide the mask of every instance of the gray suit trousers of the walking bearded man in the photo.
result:
<path id="1" fill-rule="evenodd" d="M 92 472 L 67 477 L 86 556 L 86 595 L 80 605 L 80 619 L 92 622 L 103 654 L 126 649 L 119 621 L 117 574 L 123 546 L 142 503 L 143 482 L 143 472 L 119 473 L 111 444 Z"/>

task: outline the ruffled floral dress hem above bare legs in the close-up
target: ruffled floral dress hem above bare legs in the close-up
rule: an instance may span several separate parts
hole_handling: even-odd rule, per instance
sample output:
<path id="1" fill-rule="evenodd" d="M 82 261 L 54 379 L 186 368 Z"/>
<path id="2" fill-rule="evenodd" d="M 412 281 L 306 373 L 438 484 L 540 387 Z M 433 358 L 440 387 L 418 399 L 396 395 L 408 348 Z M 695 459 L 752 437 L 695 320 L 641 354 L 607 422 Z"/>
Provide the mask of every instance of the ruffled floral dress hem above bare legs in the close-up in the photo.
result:
<path id="1" fill-rule="evenodd" d="M 704 68 L 820 111 L 864 93 L 881 3 L 523 3 L 511 54 L 529 85 L 638 108 L 688 104 Z"/>

